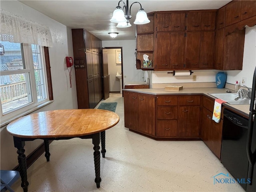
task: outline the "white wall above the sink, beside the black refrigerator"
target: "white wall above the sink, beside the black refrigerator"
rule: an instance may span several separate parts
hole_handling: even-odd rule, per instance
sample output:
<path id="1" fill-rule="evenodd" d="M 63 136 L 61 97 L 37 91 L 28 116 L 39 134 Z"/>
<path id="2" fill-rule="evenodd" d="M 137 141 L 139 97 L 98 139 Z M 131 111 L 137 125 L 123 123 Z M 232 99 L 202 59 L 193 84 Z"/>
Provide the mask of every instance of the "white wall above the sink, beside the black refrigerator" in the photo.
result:
<path id="1" fill-rule="evenodd" d="M 227 82 L 235 84 L 247 78 L 246 86 L 252 88 L 252 78 L 256 66 L 256 26 L 245 28 L 243 70 L 227 71 Z M 241 83 L 240 83 L 241 84 Z"/>

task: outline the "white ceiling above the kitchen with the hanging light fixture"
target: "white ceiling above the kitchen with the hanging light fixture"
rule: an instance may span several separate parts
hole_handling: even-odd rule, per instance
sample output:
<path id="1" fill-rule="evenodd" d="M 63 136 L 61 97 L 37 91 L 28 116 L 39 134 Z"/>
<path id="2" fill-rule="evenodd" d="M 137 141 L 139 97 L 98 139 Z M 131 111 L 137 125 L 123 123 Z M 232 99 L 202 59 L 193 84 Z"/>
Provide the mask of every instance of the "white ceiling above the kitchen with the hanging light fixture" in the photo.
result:
<path id="1" fill-rule="evenodd" d="M 140 8 L 138 3 L 131 8 L 129 28 L 117 28 L 110 22 L 119 0 L 20 0 L 21 3 L 47 15 L 70 28 L 84 28 L 101 40 L 113 40 L 108 32 L 118 32 L 114 40 L 134 40 L 136 25 L 133 24 Z M 124 0 L 126 3 L 126 0 Z M 129 7 L 135 2 L 129 1 Z M 145 12 L 174 10 L 218 9 L 230 0 L 138 0 Z M 120 3 L 122 7 L 122 2 Z"/>

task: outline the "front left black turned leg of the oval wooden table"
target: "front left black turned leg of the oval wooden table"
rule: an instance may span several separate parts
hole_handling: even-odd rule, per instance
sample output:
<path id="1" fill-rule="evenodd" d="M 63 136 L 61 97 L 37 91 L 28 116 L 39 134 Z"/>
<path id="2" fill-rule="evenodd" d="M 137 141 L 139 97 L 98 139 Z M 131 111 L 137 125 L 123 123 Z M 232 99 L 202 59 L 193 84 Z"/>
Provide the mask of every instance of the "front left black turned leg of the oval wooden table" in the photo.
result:
<path id="1" fill-rule="evenodd" d="M 18 154 L 18 162 L 19 162 L 19 172 L 21 177 L 21 187 L 24 192 L 28 191 L 28 178 L 27 178 L 27 163 L 26 163 L 26 155 L 24 146 L 25 142 L 21 140 L 21 138 L 13 137 L 14 147 L 16 147 Z"/>

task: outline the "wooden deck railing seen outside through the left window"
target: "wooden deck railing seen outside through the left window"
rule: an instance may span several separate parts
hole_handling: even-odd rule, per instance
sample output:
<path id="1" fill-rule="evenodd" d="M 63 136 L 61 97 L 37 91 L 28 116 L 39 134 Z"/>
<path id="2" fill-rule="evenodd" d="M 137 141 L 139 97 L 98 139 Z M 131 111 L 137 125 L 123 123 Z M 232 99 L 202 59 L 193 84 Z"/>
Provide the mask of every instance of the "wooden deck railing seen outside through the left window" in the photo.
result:
<path id="1" fill-rule="evenodd" d="M 0 85 L 0 94 L 2 103 L 26 97 L 28 95 L 26 81 Z"/>

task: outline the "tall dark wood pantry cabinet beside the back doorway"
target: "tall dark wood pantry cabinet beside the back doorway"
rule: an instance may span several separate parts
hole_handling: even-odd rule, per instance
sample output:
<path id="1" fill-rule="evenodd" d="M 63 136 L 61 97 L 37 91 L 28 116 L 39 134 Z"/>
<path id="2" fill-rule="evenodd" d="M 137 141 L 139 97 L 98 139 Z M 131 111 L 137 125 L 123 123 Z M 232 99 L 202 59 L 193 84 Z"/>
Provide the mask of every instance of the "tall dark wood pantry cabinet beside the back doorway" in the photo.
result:
<path id="1" fill-rule="evenodd" d="M 78 109 L 94 108 L 103 98 L 101 40 L 72 29 Z"/>

